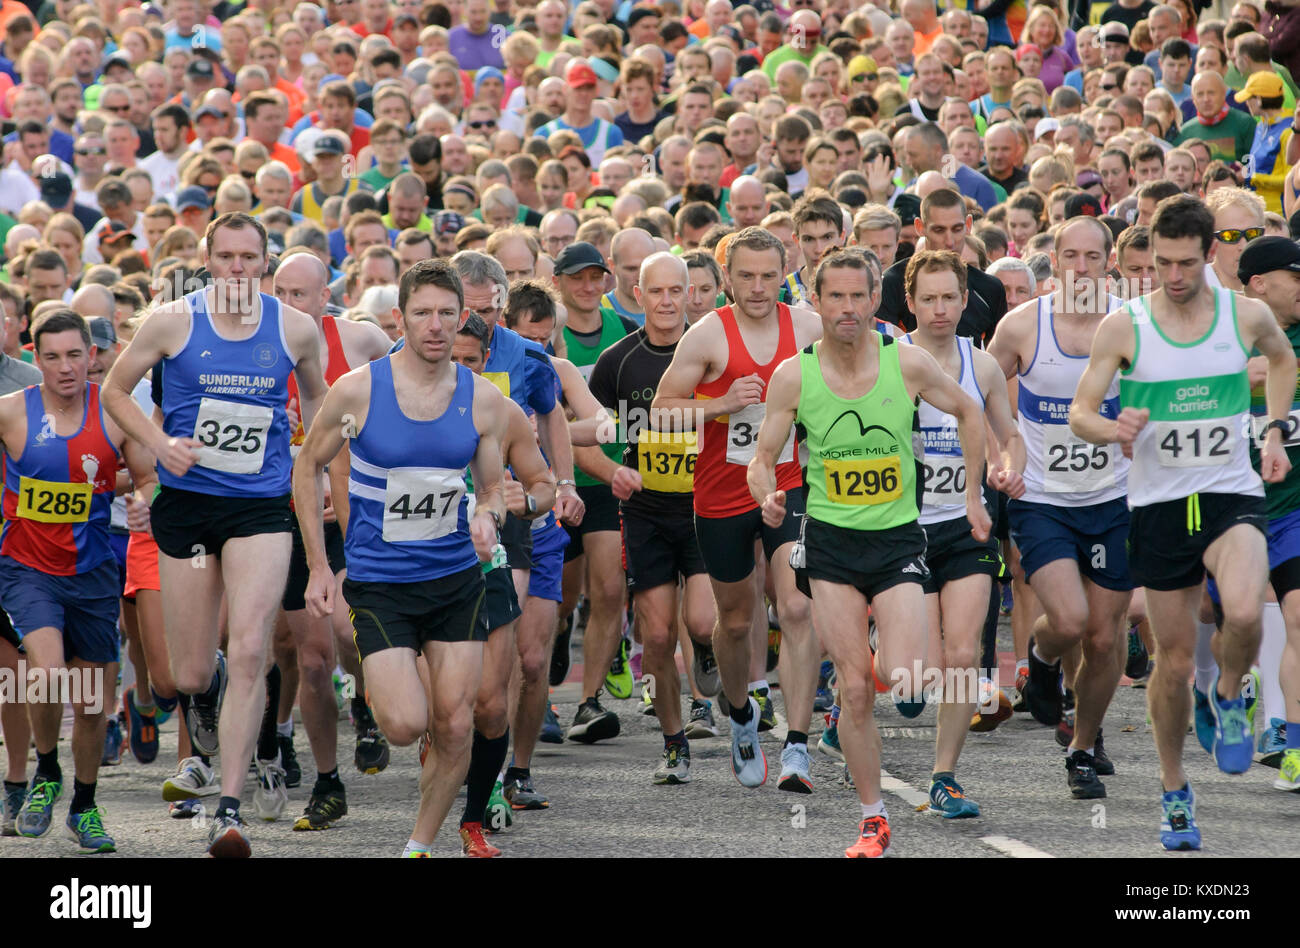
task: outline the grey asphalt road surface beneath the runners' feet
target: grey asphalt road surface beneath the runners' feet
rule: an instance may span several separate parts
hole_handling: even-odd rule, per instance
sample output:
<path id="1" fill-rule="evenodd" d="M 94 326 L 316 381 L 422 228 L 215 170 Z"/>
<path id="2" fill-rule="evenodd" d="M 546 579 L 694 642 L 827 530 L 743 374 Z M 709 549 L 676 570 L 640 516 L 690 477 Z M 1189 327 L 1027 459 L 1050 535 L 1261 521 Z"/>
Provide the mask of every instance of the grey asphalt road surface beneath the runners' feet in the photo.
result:
<path id="1" fill-rule="evenodd" d="M 1004 623 L 1002 645 L 1009 648 Z M 577 650 L 575 652 L 577 655 Z M 578 685 L 555 689 L 562 723 L 572 720 Z M 777 707 L 780 709 L 780 691 Z M 894 857 L 1149 857 L 1161 854 L 1160 785 L 1156 749 L 1145 723 L 1147 692 L 1122 685 L 1105 720 L 1106 749 L 1117 774 L 1105 778 L 1104 801 L 1075 801 L 1066 789 L 1065 757 L 1050 730 L 1017 714 L 997 731 L 970 735 L 958 769 L 967 796 L 980 804 L 976 819 L 944 821 L 924 809 L 932 765 L 935 710 L 905 720 L 889 696 L 876 705 L 884 741 L 885 804 L 893 830 Z M 745 789 L 728 766 L 729 741 L 723 736 L 692 743 L 693 782 L 655 787 L 650 775 L 662 750 L 656 720 L 638 711 L 637 701 L 606 701 L 619 713 L 623 733 L 593 746 L 542 744 L 533 761 L 538 791 L 551 800 L 545 811 L 515 814 L 514 826 L 494 837 L 511 857 L 838 857 L 853 843 L 858 821 L 855 795 L 838 785 L 840 766 L 814 752 L 812 795 L 776 789 L 784 726 L 763 735 L 768 783 Z M 783 719 L 784 723 L 784 719 Z M 814 730 L 820 731 L 820 715 Z M 176 761 L 176 719 L 161 728 L 162 750 L 148 766 L 124 750 L 122 763 L 100 771 L 99 802 L 107 828 L 124 856 L 200 857 L 204 832 L 168 817 L 162 780 Z M 313 772 L 306 735 L 296 745 L 306 774 L 290 791 L 290 809 L 277 823 L 252 826 L 259 857 L 384 857 L 404 845 L 417 802 L 419 766 L 415 748 L 394 749 L 389 769 L 363 776 L 351 766 L 352 728 L 339 723 L 342 775 L 348 815 L 326 832 L 292 832 L 292 818 L 307 802 Z M 812 743 L 815 743 L 815 736 Z M 60 744 L 65 772 L 70 748 Z M 1260 766 L 1244 775 L 1221 774 L 1187 739 L 1187 770 L 1197 795 L 1197 821 L 1204 849 L 1165 854 L 1167 860 L 1213 856 L 1294 856 L 1300 839 L 1300 795 L 1273 789 L 1277 771 Z M 251 814 L 252 782 L 246 792 Z M 214 801 L 214 797 L 211 798 Z M 0 839 L 0 860 L 74 856 L 62 835 L 65 797 L 58 823 L 39 840 Z M 434 844 L 438 856 L 458 856 L 455 822 L 463 798 L 452 808 Z M 112 857 L 104 857 L 112 858 Z"/>

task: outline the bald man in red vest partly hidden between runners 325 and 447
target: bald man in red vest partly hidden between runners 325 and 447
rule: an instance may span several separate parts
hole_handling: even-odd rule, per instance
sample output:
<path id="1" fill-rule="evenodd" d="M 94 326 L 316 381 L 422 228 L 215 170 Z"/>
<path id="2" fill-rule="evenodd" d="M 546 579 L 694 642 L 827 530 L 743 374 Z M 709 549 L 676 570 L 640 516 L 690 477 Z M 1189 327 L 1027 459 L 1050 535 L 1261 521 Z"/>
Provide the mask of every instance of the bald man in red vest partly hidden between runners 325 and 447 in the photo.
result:
<path id="1" fill-rule="evenodd" d="M 295 252 L 280 261 L 274 277 L 276 299 L 312 317 L 320 342 L 321 367 L 325 384 L 333 385 L 354 365 L 382 358 L 389 337 L 373 323 L 335 319 L 325 313 L 329 304 L 329 270 L 320 257 L 311 252 Z M 290 399 L 295 414 L 300 415 L 298 386 L 290 380 Z M 306 433 L 299 423 L 290 442 L 290 453 L 298 454 Z M 343 532 L 333 516 L 326 514 L 325 549 L 335 573 L 344 575 Z M 292 524 L 292 554 L 289 560 L 289 583 L 281 598 L 285 620 L 298 653 L 300 675 L 299 702 L 303 728 L 316 761 L 316 783 L 303 815 L 294 823 L 295 830 L 326 830 L 347 813 L 347 793 L 338 775 L 338 707 L 334 698 L 334 640 L 335 631 L 326 620 L 307 612 L 303 593 L 307 589 L 307 554 L 296 520 Z M 335 618 L 342 619 L 342 611 Z M 356 769 L 363 774 L 378 772 L 387 762 L 389 749 L 384 735 L 374 724 L 374 717 L 365 702 L 364 679 L 356 681 L 358 698 L 352 702 L 356 726 Z M 280 744 L 292 740 L 292 719 L 280 728 Z"/>

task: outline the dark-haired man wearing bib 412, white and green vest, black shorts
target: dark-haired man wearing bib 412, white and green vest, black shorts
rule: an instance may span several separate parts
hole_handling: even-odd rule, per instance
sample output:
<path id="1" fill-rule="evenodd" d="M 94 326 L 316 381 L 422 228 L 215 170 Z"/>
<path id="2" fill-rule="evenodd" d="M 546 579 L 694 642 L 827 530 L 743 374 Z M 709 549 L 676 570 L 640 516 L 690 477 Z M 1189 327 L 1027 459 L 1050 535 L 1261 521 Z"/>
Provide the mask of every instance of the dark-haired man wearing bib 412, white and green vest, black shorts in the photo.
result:
<path id="1" fill-rule="evenodd" d="M 1291 469 L 1283 441 L 1296 384 L 1295 352 L 1264 303 L 1206 283 L 1214 216 L 1199 198 L 1166 198 L 1150 224 L 1161 286 L 1105 319 L 1070 410 L 1071 429 L 1095 445 L 1118 442 L 1128 477 L 1130 567 L 1147 589 L 1156 670 L 1147 707 L 1164 785 L 1161 844 L 1200 849 L 1196 798 L 1183 771 L 1191 711 L 1187 683 L 1193 622 L 1206 570 L 1223 610 L 1216 633 L 1219 675 L 1210 688 L 1214 759 L 1242 774 L 1254 753 L 1242 678 L 1260 646 L 1269 580 L 1264 477 Z M 1251 467 L 1251 350 L 1268 359 L 1260 473 Z M 1122 371 L 1118 417 L 1098 411 Z"/>

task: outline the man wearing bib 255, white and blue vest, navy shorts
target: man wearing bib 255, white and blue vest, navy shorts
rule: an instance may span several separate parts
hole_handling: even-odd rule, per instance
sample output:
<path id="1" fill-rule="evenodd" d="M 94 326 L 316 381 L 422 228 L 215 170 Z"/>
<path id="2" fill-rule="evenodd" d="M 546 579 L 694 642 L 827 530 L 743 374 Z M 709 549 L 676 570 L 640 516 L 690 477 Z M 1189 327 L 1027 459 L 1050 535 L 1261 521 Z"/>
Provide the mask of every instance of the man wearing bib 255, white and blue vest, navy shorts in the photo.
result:
<path id="1" fill-rule="evenodd" d="M 1066 782 L 1076 800 L 1106 796 L 1100 775 L 1113 774 L 1101 720 L 1119 684 L 1128 580 L 1124 476 L 1128 462 L 1110 447 L 1089 447 L 1069 428 L 1070 399 L 1087 364 L 1101 317 L 1122 304 L 1106 293 L 1110 229 L 1074 217 L 1057 231 L 1052 267 L 1057 289 L 1009 312 L 989 354 L 1019 381 L 1024 440 L 1024 493 L 1008 505 L 1011 540 L 1045 616 L 1030 640 L 1024 700 L 1043 724 L 1061 722 L 1061 659 L 1083 645 L 1074 675 L 1075 722 Z M 1106 394 L 1108 417 L 1119 414 L 1118 385 Z"/>

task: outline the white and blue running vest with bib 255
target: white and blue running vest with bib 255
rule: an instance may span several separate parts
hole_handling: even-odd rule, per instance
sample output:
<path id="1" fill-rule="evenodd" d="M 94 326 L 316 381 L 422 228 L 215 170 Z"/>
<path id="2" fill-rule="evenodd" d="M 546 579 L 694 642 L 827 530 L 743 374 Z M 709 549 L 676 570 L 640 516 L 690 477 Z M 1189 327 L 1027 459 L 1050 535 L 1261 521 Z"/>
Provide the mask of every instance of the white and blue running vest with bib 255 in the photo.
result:
<path id="1" fill-rule="evenodd" d="M 1039 296 L 1039 339 L 1030 367 L 1020 373 L 1017 424 L 1024 438 L 1024 495 L 1031 503 L 1083 507 L 1124 495 L 1128 459 L 1118 445 L 1091 445 L 1070 430 L 1070 403 L 1087 355 L 1067 355 L 1056 341 L 1053 295 Z M 1124 302 L 1110 298 L 1110 308 Z M 1102 417 L 1119 416 L 1119 381 L 1110 382 Z"/>

